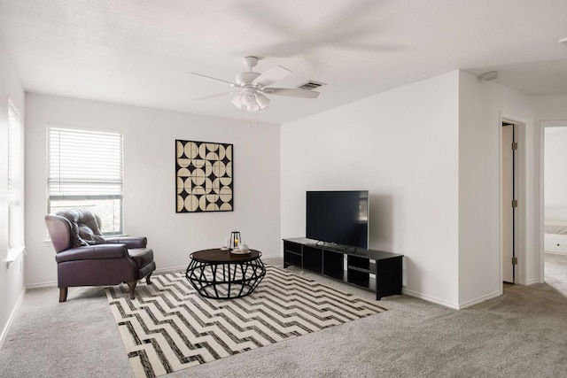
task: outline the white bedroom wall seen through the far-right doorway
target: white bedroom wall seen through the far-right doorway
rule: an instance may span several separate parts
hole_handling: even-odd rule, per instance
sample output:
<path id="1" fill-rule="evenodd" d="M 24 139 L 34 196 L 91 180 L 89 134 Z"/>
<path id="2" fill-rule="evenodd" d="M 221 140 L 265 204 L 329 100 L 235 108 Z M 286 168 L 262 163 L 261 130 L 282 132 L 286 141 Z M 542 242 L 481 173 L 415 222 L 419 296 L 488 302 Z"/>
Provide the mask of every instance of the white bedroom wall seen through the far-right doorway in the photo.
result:
<path id="1" fill-rule="evenodd" d="M 567 220 L 567 127 L 546 127 L 544 133 L 546 218 Z"/>

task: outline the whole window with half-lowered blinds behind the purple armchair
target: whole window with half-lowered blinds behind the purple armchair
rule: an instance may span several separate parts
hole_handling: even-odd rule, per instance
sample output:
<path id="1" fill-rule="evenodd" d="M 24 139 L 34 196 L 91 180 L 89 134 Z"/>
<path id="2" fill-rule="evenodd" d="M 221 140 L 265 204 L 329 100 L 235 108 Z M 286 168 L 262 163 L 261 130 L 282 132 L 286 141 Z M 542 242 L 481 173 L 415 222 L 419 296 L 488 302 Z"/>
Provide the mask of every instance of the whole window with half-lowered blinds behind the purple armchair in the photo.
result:
<path id="1" fill-rule="evenodd" d="M 122 234 L 122 135 L 50 127 L 48 143 L 49 212 L 88 208 Z"/>

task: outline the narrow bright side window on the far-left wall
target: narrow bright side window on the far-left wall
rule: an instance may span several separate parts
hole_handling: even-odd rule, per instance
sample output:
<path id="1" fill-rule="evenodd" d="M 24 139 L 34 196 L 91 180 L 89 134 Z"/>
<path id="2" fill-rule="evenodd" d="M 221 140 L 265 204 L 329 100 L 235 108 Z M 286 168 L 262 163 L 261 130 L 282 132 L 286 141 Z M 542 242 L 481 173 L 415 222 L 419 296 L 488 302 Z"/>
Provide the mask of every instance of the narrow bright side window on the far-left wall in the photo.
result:
<path id="1" fill-rule="evenodd" d="M 8 100 L 8 255 L 15 258 L 24 247 L 22 145 L 19 113 Z"/>

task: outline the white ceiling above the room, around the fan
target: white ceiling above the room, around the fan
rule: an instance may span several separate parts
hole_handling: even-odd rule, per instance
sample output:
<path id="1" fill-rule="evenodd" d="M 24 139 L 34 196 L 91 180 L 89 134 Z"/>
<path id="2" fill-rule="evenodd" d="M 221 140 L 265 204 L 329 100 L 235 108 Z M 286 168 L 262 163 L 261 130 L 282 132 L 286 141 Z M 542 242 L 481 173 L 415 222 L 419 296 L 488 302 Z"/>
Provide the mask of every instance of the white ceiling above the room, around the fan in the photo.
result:
<path id="1" fill-rule="evenodd" d="M 229 90 L 243 58 L 322 81 L 271 96 L 284 123 L 454 69 L 497 70 L 530 95 L 567 94 L 565 0 L 0 0 L 0 36 L 27 91 L 248 120 Z M 254 115 L 255 117 L 255 115 Z"/>

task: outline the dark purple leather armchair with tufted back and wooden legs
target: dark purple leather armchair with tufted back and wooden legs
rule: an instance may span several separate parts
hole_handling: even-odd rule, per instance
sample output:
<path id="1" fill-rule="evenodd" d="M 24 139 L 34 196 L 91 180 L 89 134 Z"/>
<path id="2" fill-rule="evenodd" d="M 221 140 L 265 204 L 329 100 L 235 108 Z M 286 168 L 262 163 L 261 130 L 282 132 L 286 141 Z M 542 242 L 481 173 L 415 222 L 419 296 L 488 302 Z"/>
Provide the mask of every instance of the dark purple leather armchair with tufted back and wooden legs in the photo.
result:
<path id="1" fill-rule="evenodd" d="M 151 284 L 156 263 L 145 237 L 104 237 L 100 218 L 83 209 L 46 215 L 45 224 L 57 252 L 59 302 L 66 301 L 69 287 L 126 282 L 134 299 L 138 280 Z"/>

